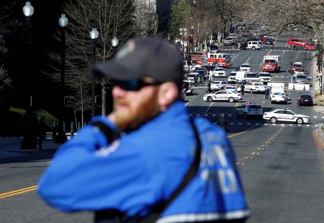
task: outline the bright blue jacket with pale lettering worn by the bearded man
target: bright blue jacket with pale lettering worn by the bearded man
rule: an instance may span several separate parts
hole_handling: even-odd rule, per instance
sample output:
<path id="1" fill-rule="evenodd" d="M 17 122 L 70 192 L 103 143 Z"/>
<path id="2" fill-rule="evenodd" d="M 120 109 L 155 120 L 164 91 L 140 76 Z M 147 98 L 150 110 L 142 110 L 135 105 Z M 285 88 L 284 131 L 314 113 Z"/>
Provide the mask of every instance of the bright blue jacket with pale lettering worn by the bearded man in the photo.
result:
<path id="1" fill-rule="evenodd" d="M 93 118 L 98 120 L 116 129 L 106 117 Z M 194 123 L 202 146 L 198 173 L 158 222 L 249 216 L 225 132 L 204 118 L 196 117 Z M 117 209 L 128 216 L 144 216 L 177 188 L 195 148 L 182 102 L 113 142 L 88 125 L 56 152 L 39 180 L 38 194 L 62 211 Z"/>

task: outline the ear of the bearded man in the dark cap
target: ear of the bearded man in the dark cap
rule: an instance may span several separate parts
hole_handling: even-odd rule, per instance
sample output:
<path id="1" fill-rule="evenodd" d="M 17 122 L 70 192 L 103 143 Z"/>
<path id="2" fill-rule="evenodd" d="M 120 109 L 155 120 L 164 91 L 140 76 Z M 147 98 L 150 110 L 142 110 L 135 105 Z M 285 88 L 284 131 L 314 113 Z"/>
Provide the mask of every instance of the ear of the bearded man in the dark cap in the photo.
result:
<path id="1" fill-rule="evenodd" d="M 165 110 L 169 105 L 177 100 L 179 89 L 175 83 L 166 82 L 159 86 L 157 94 L 158 104 L 160 105 L 161 110 Z"/>

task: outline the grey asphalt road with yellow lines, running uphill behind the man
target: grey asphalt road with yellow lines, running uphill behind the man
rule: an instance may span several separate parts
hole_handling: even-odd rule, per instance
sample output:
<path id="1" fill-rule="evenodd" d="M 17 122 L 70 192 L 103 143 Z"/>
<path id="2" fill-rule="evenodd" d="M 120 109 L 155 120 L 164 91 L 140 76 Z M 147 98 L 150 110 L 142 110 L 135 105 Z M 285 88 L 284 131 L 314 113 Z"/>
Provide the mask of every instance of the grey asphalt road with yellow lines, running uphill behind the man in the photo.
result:
<path id="1" fill-rule="evenodd" d="M 309 58 L 313 52 L 288 51 L 285 47 L 287 37 L 276 41 L 275 50 L 265 46 L 262 50 L 232 50 L 225 47 L 233 58 L 235 69 L 241 63 L 250 63 L 253 71 L 261 70 L 264 55 L 282 55 L 281 72 L 273 73 L 274 82 L 284 82 L 288 87 L 286 69 L 296 59 Z M 237 47 L 236 47 L 237 48 Z M 306 67 L 310 76 L 316 75 L 313 62 Z M 227 80 L 220 78 L 220 80 Z M 315 85 L 310 91 L 314 94 Z M 316 146 L 313 133 L 322 117 L 313 107 L 298 106 L 296 97 L 302 93 L 287 90 L 290 100 L 286 104 L 271 104 L 263 94 L 246 93 L 238 103 L 207 102 L 203 100 L 207 88 L 194 88 L 192 96 L 184 102 L 191 116 L 204 116 L 215 123 L 221 113 L 227 114 L 230 123 L 228 138 L 237 158 L 237 166 L 244 184 L 252 216 L 248 223 L 260 222 L 322 222 L 324 219 L 324 154 Z M 311 117 L 311 123 L 270 124 L 264 120 L 237 119 L 235 108 L 244 102 L 259 103 L 264 111 L 286 108 Z M 47 206 L 36 194 L 36 184 L 51 162 L 48 154 L 29 156 L 24 160 L 12 159 L 0 164 L 0 222 L 91 222 L 91 212 L 65 214 Z M 21 190 L 21 191 L 19 191 Z"/>

